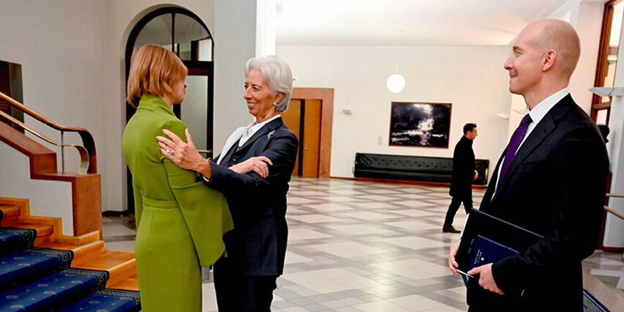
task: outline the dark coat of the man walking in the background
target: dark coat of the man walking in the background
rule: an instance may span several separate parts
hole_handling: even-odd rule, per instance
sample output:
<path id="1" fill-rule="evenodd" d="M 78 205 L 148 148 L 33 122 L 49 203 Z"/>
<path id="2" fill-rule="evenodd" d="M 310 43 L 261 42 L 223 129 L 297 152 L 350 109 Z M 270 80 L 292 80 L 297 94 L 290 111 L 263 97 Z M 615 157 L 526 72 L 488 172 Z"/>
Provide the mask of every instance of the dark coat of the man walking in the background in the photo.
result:
<path id="1" fill-rule="evenodd" d="M 474 177 L 472 140 L 462 135 L 453 152 L 453 174 L 449 195 L 461 198 L 472 196 L 472 177 Z"/>

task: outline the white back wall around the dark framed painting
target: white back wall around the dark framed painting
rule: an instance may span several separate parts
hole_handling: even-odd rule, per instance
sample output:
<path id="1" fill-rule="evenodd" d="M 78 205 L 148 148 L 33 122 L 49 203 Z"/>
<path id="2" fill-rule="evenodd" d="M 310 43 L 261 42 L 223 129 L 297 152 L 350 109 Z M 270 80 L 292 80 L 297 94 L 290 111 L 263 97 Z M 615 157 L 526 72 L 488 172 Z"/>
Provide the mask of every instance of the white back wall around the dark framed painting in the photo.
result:
<path id="1" fill-rule="evenodd" d="M 507 47 L 278 46 L 277 52 L 298 78 L 295 87 L 334 88 L 333 177 L 353 177 L 356 152 L 452 157 L 467 122 L 479 127 L 474 151 L 490 160 L 490 174 L 505 147 L 508 121 L 496 114 L 509 112 Z M 407 80 L 399 94 L 386 89 L 395 61 Z M 392 101 L 452 103 L 449 148 L 388 146 Z"/>

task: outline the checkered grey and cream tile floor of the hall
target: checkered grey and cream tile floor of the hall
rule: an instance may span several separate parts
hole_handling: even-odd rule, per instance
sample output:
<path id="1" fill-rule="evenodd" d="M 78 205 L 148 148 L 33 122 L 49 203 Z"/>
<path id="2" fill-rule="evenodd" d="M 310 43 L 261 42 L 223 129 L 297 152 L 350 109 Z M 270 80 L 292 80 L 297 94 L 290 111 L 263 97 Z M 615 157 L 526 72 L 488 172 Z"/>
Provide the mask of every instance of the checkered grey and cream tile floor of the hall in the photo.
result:
<path id="1" fill-rule="evenodd" d="M 286 268 L 273 311 L 467 310 L 461 278 L 447 269 L 449 246 L 459 235 L 441 231 L 448 188 L 296 177 L 290 185 Z M 475 207 L 483 193 L 473 190 Z M 455 227 L 465 218 L 460 208 Z M 133 224 L 132 218 L 105 218 L 107 247 L 134 249 Z M 598 252 L 584 266 L 624 271 L 618 256 Z M 624 301 L 615 282 L 586 277 L 606 287 L 614 305 Z M 603 300 L 597 294 L 603 288 L 596 289 L 590 291 Z M 217 310 L 209 281 L 203 310 Z"/>

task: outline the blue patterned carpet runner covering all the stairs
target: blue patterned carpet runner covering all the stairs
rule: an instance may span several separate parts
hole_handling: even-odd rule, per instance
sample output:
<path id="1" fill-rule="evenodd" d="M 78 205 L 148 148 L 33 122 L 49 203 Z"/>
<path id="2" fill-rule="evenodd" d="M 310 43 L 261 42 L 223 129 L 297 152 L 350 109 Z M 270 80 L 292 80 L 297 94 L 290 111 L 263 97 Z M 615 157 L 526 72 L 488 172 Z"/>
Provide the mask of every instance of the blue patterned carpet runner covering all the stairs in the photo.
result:
<path id="1" fill-rule="evenodd" d="M 135 312 L 138 291 L 104 289 L 109 272 L 69 268 L 72 251 L 33 248 L 36 230 L 0 227 L 0 312 Z"/>

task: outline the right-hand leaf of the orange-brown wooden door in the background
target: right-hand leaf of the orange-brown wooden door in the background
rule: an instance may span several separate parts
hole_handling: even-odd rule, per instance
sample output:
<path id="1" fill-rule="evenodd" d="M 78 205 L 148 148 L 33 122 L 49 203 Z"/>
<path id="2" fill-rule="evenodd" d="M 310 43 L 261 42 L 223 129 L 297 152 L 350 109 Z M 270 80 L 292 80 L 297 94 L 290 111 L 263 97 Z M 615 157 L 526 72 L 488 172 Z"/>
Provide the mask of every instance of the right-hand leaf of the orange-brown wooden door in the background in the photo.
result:
<path id="1" fill-rule="evenodd" d="M 305 100 L 303 105 L 301 177 L 318 178 L 321 142 L 321 100 Z"/>

